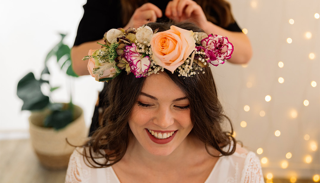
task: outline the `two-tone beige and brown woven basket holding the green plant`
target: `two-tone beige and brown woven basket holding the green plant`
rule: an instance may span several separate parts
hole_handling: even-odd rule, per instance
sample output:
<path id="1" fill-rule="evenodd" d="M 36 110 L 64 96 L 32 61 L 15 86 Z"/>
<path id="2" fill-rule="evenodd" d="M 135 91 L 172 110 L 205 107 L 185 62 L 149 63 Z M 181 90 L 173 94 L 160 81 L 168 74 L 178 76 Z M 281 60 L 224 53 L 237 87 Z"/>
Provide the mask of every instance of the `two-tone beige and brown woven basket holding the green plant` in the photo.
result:
<path id="1" fill-rule="evenodd" d="M 84 123 L 83 110 L 75 107 L 75 120 L 65 128 L 55 130 L 42 126 L 49 111 L 32 112 L 29 117 L 31 144 L 40 163 L 48 169 L 64 169 L 68 166 L 73 146 L 82 145 L 87 139 L 87 128 Z"/>

